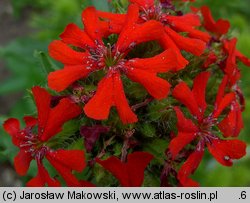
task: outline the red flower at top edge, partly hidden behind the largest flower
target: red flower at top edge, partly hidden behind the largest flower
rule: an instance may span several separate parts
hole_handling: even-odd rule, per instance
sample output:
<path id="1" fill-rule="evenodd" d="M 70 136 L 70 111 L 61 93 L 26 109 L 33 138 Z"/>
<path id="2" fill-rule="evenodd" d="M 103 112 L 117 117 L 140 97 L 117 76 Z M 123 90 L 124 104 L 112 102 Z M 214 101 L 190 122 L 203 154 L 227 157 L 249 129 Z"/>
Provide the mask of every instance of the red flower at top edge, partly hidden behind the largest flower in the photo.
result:
<path id="1" fill-rule="evenodd" d="M 154 19 L 164 25 L 165 33 L 159 41 L 165 49 L 171 48 L 177 54 L 178 67 L 176 70 L 184 68 L 189 63 L 182 56 L 180 50 L 185 50 L 197 56 L 204 52 L 210 36 L 195 29 L 196 26 L 200 26 L 198 15 L 173 16 L 167 14 L 162 7 L 165 4 L 171 4 L 169 1 L 161 1 L 158 5 L 154 4 L 153 0 L 130 0 L 130 3 L 140 6 L 141 13 L 138 19 L 140 23 Z M 99 16 L 108 19 L 109 22 L 112 22 L 111 24 L 122 23 L 116 20 L 116 14 L 99 13 Z M 179 32 L 188 33 L 188 37 L 182 36 Z"/>

